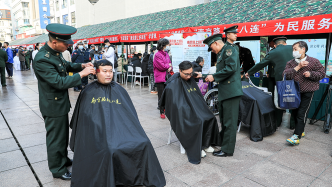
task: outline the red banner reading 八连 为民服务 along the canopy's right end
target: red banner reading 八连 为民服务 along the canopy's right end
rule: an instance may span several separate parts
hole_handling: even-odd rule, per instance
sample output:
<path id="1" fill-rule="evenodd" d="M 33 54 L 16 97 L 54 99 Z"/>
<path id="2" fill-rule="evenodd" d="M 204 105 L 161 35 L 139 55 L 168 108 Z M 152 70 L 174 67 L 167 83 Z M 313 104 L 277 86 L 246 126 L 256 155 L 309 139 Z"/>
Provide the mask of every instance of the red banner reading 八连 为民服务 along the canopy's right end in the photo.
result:
<path id="1" fill-rule="evenodd" d="M 237 23 L 227 25 L 214 25 L 191 27 L 189 32 L 212 32 L 223 33 L 223 30 L 238 25 L 238 37 L 246 36 L 277 36 L 277 35 L 300 35 L 332 32 L 332 14 L 279 19 L 271 21 Z"/>

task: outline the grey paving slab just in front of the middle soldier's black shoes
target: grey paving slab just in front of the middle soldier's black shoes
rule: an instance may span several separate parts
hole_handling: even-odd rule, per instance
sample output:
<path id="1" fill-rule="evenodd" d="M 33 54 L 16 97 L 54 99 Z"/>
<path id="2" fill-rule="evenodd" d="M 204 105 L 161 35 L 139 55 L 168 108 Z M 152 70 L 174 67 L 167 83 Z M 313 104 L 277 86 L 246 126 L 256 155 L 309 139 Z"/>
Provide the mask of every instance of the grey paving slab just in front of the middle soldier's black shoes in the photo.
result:
<path id="1" fill-rule="evenodd" d="M 204 159 L 205 161 L 212 162 L 235 173 L 242 173 L 263 160 L 263 157 L 241 151 L 237 148 L 232 157 L 215 157 L 211 153 L 207 153 L 207 155 Z"/>

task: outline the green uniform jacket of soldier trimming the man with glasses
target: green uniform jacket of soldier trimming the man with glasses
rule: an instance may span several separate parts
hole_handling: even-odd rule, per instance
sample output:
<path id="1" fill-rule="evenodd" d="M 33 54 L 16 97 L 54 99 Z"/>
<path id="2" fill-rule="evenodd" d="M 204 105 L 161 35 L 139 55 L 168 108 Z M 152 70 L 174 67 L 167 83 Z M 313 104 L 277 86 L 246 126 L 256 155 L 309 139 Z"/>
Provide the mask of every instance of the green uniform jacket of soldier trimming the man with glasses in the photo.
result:
<path id="1" fill-rule="evenodd" d="M 223 101 L 243 95 L 239 51 L 226 42 L 217 56 L 217 72 L 213 74 L 218 85 L 218 100 Z"/>

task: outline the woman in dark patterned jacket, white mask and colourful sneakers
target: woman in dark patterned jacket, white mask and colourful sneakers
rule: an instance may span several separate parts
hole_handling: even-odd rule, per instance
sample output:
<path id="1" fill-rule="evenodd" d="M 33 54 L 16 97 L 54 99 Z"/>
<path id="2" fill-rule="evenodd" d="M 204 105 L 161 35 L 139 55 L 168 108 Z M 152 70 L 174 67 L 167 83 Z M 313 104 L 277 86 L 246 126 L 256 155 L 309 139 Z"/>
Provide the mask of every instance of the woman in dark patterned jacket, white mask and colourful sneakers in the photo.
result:
<path id="1" fill-rule="evenodd" d="M 287 139 L 292 145 L 298 145 L 303 136 L 306 116 L 310 108 L 314 92 L 319 89 L 319 81 L 325 77 L 325 69 L 316 58 L 306 55 L 308 45 L 304 41 L 293 44 L 294 59 L 287 62 L 283 75 L 286 79 L 300 84 L 301 103 L 299 108 L 292 111 L 295 119 L 295 130 L 292 137 Z"/>

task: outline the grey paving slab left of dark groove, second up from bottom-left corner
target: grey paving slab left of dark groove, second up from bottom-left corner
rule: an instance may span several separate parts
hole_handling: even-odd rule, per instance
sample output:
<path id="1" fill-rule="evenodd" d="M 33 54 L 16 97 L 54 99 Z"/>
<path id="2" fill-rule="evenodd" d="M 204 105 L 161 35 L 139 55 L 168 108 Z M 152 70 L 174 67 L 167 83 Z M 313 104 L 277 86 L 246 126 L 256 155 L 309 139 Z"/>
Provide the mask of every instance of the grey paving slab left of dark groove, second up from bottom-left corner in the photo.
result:
<path id="1" fill-rule="evenodd" d="M 20 150 L 0 154 L 0 172 L 27 165 Z"/>

